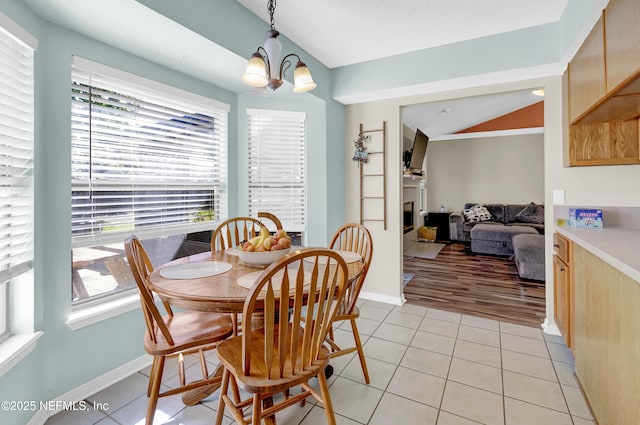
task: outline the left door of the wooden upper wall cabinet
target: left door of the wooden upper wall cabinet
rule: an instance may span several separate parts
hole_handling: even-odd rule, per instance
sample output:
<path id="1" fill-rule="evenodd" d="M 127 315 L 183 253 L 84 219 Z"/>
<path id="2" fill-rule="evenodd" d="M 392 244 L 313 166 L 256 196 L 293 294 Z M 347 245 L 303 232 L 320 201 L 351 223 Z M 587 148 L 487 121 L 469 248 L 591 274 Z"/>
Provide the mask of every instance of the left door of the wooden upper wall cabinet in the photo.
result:
<path id="1" fill-rule="evenodd" d="M 569 64 L 569 122 L 606 94 L 604 25 L 600 17 Z"/>

